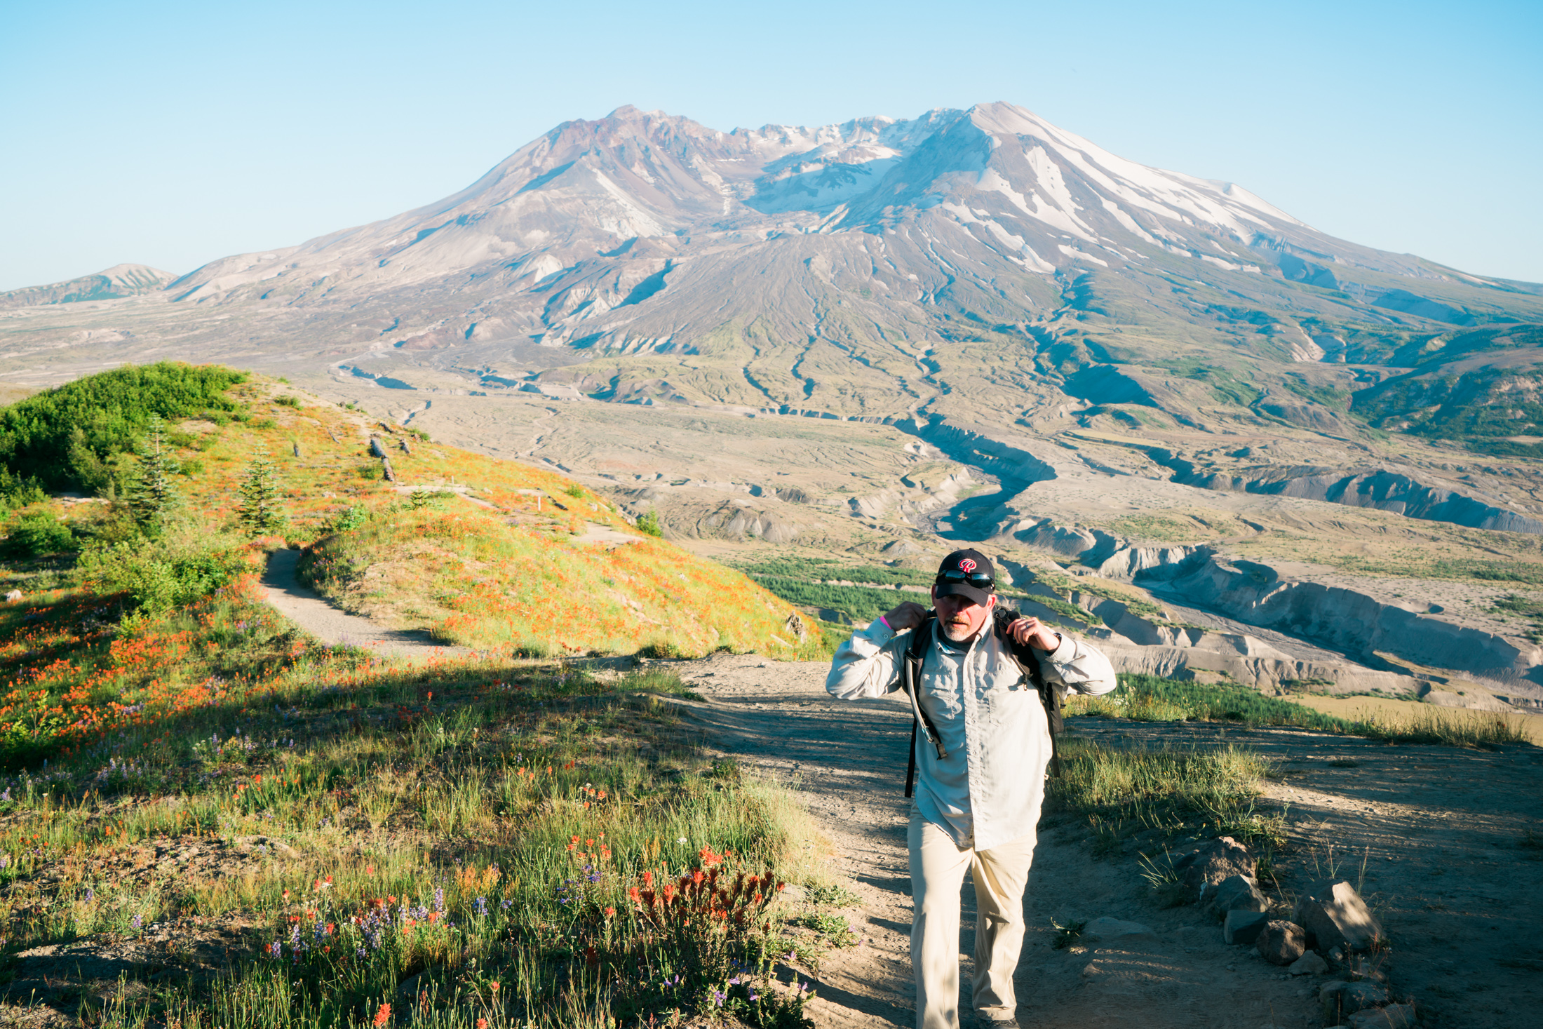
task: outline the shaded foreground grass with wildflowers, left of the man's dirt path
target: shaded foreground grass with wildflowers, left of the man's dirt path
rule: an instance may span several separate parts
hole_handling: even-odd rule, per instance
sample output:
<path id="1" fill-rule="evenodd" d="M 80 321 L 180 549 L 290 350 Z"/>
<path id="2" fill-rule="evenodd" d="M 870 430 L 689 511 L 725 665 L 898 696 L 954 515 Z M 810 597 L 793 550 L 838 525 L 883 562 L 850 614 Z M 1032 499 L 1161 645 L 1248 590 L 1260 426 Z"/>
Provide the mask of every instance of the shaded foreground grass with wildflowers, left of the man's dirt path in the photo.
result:
<path id="1" fill-rule="evenodd" d="M 253 614 L 236 602 L 205 620 Z M 631 892 L 693 869 L 721 870 L 725 889 L 764 876 L 764 898 L 776 879 L 824 879 L 790 798 L 707 762 L 660 702 L 685 694 L 679 679 L 296 657 L 281 626 L 228 660 L 267 671 L 9 781 L 0 966 L 46 943 L 133 938 L 151 921 L 196 933 L 198 919 L 239 915 L 256 930 L 213 980 L 131 992 L 103 1024 L 364 1024 L 383 1003 L 406 1015 L 397 995 L 412 977 L 429 997 L 423 1024 L 566 1029 L 589 1012 L 600 1026 L 716 1010 L 716 994 L 747 1024 L 802 1024 L 804 995 L 770 973 L 775 955 L 813 944 L 784 938 L 781 912 L 747 889 L 730 921 L 693 929 L 685 907 Z M 136 849 L 230 853 L 256 835 L 293 856 L 148 887 L 117 878 Z M 702 895 L 691 904 L 707 910 Z M 816 930 L 819 946 L 846 943 Z"/>

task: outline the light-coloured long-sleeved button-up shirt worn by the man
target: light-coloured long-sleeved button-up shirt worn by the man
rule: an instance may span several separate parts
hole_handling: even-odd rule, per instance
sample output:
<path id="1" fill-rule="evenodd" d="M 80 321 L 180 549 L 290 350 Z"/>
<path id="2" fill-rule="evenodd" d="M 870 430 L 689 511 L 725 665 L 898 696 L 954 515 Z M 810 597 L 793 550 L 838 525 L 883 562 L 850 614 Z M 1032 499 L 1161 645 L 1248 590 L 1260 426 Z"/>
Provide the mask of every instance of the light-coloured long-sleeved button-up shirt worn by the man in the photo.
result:
<path id="1" fill-rule="evenodd" d="M 960 847 L 991 850 L 1034 832 L 1051 761 L 1049 720 L 1038 691 L 992 631 L 991 622 L 967 649 L 943 646 L 938 623 L 921 663 L 917 700 L 947 751 L 917 734 L 917 808 Z M 896 634 L 881 619 L 841 645 L 826 690 L 842 700 L 881 697 L 901 688 L 910 631 Z M 1045 682 L 1065 697 L 1075 690 L 1114 690 L 1114 668 L 1092 645 L 1063 636 L 1038 651 Z"/>

